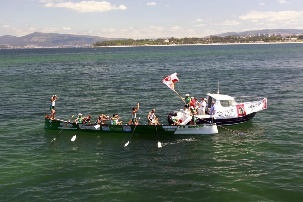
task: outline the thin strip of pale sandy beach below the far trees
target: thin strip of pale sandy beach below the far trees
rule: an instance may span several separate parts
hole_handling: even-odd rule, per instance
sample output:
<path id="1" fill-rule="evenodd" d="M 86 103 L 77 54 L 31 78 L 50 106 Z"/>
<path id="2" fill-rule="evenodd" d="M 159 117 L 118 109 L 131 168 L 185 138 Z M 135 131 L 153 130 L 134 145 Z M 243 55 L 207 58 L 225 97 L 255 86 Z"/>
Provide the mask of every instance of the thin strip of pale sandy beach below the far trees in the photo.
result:
<path id="1" fill-rule="evenodd" d="M 266 42 L 266 43 L 215 43 L 215 44 L 169 44 L 169 45 L 121 45 L 121 46 L 92 46 L 90 48 L 116 48 L 116 47 L 150 47 L 150 46 L 199 46 L 199 45 L 253 45 L 253 44 L 294 44 L 303 41 L 293 42 Z"/>

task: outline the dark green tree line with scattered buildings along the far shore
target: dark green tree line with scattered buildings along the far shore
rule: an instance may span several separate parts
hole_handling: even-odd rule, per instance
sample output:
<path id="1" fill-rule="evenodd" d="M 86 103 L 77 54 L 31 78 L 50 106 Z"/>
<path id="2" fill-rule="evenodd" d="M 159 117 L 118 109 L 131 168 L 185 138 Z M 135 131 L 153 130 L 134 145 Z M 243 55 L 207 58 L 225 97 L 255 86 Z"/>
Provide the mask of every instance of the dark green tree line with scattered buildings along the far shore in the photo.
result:
<path id="1" fill-rule="evenodd" d="M 279 42 L 289 41 L 291 38 L 297 38 L 297 40 L 303 39 L 303 35 L 295 36 L 290 35 L 286 38 L 281 36 L 211 36 L 209 38 L 169 38 L 169 39 L 125 39 L 125 40 L 110 40 L 110 41 L 97 41 L 93 46 L 125 46 L 125 45 L 169 45 L 169 44 L 213 44 L 213 43 L 258 43 L 258 42 Z"/>

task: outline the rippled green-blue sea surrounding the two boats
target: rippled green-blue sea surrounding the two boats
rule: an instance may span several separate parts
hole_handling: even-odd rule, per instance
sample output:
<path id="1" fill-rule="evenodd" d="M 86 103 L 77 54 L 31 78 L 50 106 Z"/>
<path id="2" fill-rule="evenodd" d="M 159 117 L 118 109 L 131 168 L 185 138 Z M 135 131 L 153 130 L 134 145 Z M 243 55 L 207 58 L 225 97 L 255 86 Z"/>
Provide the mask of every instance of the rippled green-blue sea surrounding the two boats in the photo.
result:
<path id="1" fill-rule="evenodd" d="M 0 201 L 302 201 L 303 44 L 0 50 Z M 182 96 L 268 98 L 268 109 L 215 135 L 98 135 L 44 129 L 56 118 L 132 107 L 160 123 Z"/>

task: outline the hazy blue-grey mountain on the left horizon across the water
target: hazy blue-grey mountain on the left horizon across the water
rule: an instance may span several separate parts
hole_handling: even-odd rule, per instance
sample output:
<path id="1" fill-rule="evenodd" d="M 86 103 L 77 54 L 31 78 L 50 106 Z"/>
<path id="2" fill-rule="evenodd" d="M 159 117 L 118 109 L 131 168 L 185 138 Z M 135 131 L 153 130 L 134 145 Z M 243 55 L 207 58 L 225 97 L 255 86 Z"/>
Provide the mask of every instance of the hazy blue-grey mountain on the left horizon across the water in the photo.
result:
<path id="1" fill-rule="evenodd" d="M 57 34 L 57 33 L 42 33 L 34 32 L 32 34 L 15 37 L 4 35 L 0 37 L 0 44 L 7 44 L 12 46 L 41 46 L 41 47 L 76 47 L 89 46 L 99 41 L 120 40 L 126 38 L 105 38 L 89 35 L 71 35 L 71 34 Z"/>

